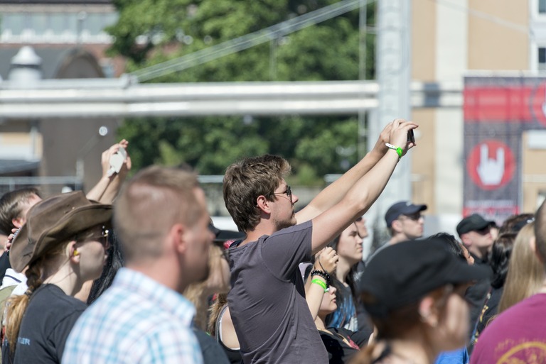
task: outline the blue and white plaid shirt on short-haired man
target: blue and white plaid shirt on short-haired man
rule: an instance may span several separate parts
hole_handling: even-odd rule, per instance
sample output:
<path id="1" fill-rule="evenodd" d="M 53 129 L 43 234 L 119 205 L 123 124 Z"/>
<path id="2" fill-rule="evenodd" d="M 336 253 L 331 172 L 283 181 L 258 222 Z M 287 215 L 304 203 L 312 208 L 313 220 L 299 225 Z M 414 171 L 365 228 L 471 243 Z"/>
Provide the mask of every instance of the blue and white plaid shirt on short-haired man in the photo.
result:
<path id="1" fill-rule="evenodd" d="M 62 363 L 203 363 L 195 312 L 181 294 L 122 268 L 70 331 Z"/>

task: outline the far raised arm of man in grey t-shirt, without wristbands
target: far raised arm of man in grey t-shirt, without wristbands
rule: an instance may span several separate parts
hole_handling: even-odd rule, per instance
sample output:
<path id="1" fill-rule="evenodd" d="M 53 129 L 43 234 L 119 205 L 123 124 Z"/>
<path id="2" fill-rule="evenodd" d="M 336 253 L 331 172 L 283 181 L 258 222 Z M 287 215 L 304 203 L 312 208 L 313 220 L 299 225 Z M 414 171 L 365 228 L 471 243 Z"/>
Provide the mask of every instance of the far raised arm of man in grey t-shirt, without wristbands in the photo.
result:
<path id="1" fill-rule="evenodd" d="M 387 153 L 388 148 L 385 143 L 389 141 L 391 128 L 392 123 L 388 123 L 380 133 L 378 141 L 370 153 L 366 154 L 360 162 L 345 172 L 338 180 L 323 189 L 304 209 L 296 214 L 298 224 L 314 219 L 340 202 L 350 187 L 353 187 L 363 175 L 368 173 L 379 162 L 383 155 Z"/>

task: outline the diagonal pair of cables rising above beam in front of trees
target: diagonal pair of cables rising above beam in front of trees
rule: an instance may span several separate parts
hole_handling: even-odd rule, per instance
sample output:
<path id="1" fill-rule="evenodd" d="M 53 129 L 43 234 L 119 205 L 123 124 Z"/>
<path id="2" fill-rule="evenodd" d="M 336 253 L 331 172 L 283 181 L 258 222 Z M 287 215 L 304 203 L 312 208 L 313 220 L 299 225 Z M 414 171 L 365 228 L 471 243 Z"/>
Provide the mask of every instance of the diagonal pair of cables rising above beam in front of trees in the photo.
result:
<path id="1" fill-rule="evenodd" d="M 366 0 L 365 4 L 369 1 Z M 308 26 L 313 26 L 316 23 L 321 23 L 336 16 L 340 16 L 344 13 L 348 13 L 354 9 L 357 9 L 363 3 L 362 0 L 343 0 L 336 4 L 325 6 L 321 9 L 311 11 L 296 18 L 291 18 L 282 23 L 275 24 L 268 28 L 242 35 L 239 38 L 218 43 L 208 48 L 198 50 L 197 52 L 182 57 L 168 60 L 166 62 L 158 63 L 150 67 L 143 68 L 132 72 L 132 76 L 137 77 L 139 82 L 148 81 L 157 77 L 165 76 L 173 72 L 186 70 L 196 65 L 202 65 L 203 63 L 210 62 L 225 55 L 240 52 L 248 48 L 252 48 L 255 45 L 269 42 L 287 35 L 300 31 Z"/>

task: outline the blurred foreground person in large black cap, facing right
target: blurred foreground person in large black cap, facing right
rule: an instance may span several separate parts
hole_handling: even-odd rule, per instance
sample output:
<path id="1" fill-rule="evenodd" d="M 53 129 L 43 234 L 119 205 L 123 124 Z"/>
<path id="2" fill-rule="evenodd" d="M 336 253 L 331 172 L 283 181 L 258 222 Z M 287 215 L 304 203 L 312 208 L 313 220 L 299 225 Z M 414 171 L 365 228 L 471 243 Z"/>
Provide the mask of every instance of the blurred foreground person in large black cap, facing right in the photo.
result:
<path id="1" fill-rule="evenodd" d="M 464 292 L 487 274 L 437 241 L 382 249 L 360 282 L 375 341 L 353 363 L 429 364 L 441 351 L 464 346 L 469 331 Z"/>

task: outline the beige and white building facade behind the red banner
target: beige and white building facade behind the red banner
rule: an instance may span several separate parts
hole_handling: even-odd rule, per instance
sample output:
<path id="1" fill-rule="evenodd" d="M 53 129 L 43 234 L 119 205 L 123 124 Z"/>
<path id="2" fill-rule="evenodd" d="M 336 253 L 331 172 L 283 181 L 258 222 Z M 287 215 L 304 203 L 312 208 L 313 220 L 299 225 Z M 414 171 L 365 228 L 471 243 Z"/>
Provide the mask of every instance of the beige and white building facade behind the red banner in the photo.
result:
<path id="1" fill-rule="evenodd" d="M 464 87 L 464 77 L 473 75 L 546 76 L 546 1 L 413 0 L 411 48 L 414 81 Z M 412 111 L 420 124 L 412 199 L 429 206 L 431 233 L 454 231 L 466 207 L 462 186 L 471 169 L 465 117 L 464 108 Z M 545 126 L 518 135 L 519 212 L 534 212 L 546 196 Z"/>

